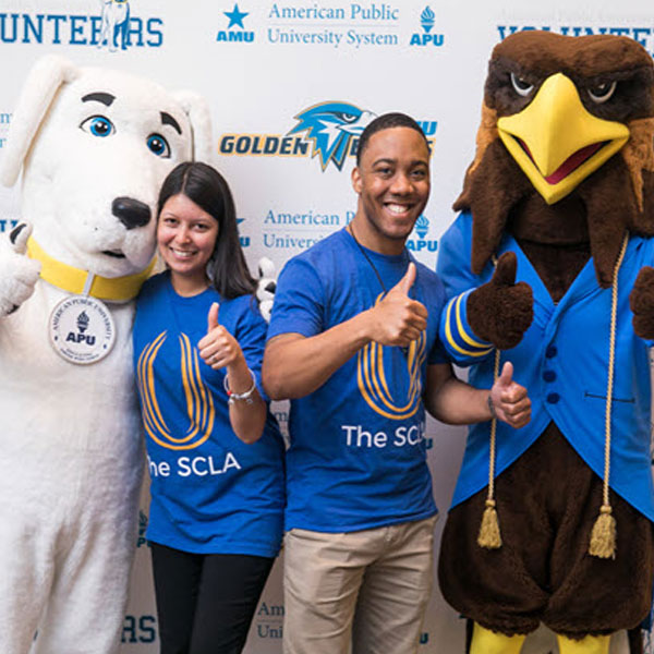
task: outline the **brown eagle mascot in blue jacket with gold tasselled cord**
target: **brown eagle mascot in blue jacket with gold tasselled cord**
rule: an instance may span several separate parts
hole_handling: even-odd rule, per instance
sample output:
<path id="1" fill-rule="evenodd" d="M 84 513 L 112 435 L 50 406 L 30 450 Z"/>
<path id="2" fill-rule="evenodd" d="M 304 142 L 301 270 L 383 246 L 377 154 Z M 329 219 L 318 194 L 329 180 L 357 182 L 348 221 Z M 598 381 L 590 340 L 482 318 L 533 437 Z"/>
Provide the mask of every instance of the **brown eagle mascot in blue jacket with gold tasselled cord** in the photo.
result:
<path id="1" fill-rule="evenodd" d="M 440 243 L 441 338 L 475 386 L 511 361 L 532 420 L 471 428 L 445 528 L 440 584 L 472 654 L 518 654 L 541 622 L 561 654 L 606 654 L 649 614 L 653 135 L 637 41 L 523 32 L 494 49 Z"/>

